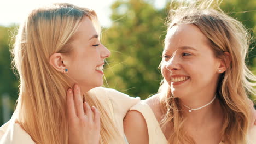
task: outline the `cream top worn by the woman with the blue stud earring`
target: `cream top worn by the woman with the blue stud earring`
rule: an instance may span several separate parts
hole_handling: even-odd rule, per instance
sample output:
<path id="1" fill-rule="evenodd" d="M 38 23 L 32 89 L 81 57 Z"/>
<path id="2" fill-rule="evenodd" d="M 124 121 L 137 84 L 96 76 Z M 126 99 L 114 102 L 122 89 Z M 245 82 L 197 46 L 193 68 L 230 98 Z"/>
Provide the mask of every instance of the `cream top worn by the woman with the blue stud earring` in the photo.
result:
<path id="1" fill-rule="evenodd" d="M 102 104 L 107 105 L 107 112 L 110 113 L 110 117 L 113 118 L 120 133 L 124 134 L 123 119 L 130 107 L 139 102 L 139 97 L 129 97 L 115 89 L 103 87 L 91 89 L 88 93 L 95 95 Z M 15 118 L 12 117 L 10 121 L 0 127 L 0 144 L 34 144 L 30 135 L 19 124 L 14 123 L 14 120 Z"/>

